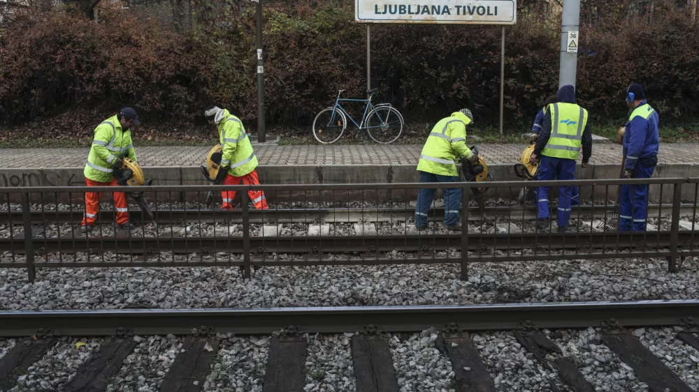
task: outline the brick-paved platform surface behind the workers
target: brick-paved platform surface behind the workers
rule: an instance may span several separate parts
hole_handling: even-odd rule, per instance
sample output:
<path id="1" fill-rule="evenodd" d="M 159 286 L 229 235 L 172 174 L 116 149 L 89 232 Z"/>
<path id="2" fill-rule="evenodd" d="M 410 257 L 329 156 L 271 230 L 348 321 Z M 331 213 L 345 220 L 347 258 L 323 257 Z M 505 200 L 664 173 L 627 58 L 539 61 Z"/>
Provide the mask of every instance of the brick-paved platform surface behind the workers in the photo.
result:
<path id="1" fill-rule="evenodd" d="M 514 164 L 526 144 L 479 144 L 490 165 Z M 199 166 L 210 146 L 138 147 L 143 166 Z M 417 165 L 421 145 L 299 145 L 254 146 L 261 165 Z M 88 148 L 0 149 L 0 168 L 83 167 Z M 619 165 L 621 146 L 610 142 L 593 145 L 591 163 Z M 661 164 L 699 164 L 699 144 L 665 143 L 658 153 Z"/>

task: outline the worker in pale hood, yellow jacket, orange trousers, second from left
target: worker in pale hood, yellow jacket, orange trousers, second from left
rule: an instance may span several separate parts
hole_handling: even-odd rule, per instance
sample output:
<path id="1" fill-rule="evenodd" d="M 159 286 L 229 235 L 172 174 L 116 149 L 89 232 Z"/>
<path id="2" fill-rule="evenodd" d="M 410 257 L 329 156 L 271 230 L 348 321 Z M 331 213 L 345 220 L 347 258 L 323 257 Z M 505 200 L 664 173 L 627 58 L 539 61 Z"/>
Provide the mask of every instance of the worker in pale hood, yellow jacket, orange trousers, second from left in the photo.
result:
<path id="1" fill-rule="evenodd" d="M 215 124 L 219 133 L 219 140 L 223 149 L 221 169 L 226 170 L 224 185 L 239 185 L 242 181 L 245 185 L 259 185 L 257 176 L 257 156 L 252 149 L 250 138 L 245 133 L 245 127 L 238 117 L 233 116 L 226 109 L 209 106 L 204 110 L 204 117 L 210 124 Z M 267 200 L 261 190 L 247 192 L 256 209 L 267 209 Z M 222 209 L 233 209 L 235 191 L 222 191 Z"/>

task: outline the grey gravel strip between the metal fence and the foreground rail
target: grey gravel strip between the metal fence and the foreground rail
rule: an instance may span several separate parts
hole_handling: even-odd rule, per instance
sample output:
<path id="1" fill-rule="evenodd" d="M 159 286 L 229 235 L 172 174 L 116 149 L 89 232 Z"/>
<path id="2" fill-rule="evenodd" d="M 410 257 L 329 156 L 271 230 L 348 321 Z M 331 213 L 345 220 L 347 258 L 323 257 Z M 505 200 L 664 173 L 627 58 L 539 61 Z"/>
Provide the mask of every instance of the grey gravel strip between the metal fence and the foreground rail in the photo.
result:
<path id="1" fill-rule="evenodd" d="M 663 259 L 240 269 L 0 269 L 0 308 L 116 309 L 427 305 L 696 299 L 699 260 L 668 273 Z"/>

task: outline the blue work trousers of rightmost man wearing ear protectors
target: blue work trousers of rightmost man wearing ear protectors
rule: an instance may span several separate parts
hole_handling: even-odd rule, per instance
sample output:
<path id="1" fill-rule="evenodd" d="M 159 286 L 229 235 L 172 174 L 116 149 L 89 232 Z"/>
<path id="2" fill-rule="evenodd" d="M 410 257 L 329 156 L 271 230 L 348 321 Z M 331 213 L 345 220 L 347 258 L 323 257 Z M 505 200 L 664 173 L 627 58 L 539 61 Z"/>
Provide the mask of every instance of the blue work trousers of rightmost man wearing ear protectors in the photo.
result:
<path id="1" fill-rule="evenodd" d="M 649 179 L 653 175 L 658 157 L 640 158 L 633 169 L 632 179 Z M 633 221 L 634 232 L 646 230 L 648 213 L 648 185 L 622 185 L 619 207 L 619 231 L 630 232 Z"/>

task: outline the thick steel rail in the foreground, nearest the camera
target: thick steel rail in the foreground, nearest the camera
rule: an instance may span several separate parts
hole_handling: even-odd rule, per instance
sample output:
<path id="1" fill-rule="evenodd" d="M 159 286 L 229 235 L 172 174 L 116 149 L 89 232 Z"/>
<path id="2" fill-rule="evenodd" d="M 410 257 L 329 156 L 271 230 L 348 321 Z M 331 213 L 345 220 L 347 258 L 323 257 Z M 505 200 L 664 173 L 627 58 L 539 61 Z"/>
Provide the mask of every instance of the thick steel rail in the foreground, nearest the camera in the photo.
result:
<path id="1" fill-rule="evenodd" d="M 317 308 L 200 308 L 134 310 L 10 310 L 0 312 L 0 336 L 108 336 L 117 328 L 138 335 L 191 334 L 206 326 L 216 333 L 268 334 L 287 326 L 303 333 L 361 331 L 415 332 L 455 323 L 463 331 L 599 327 L 610 319 L 622 326 L 673 326 L 699 318 L 698 300 L 571 303 L 497 303 L 435 306 L 352 306 Z"/>

